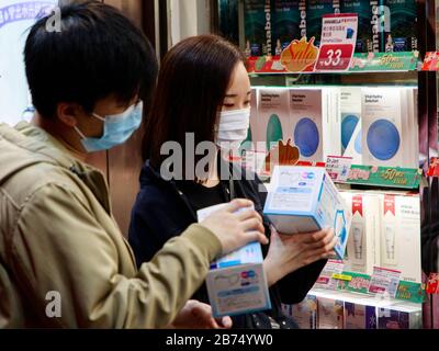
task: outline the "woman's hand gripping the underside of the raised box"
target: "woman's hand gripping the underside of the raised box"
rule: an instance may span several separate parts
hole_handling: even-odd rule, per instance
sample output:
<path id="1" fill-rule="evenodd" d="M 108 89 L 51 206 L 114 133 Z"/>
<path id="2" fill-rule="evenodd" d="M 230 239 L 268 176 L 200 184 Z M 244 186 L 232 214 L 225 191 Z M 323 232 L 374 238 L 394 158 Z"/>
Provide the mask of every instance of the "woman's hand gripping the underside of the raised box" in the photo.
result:
<path id="1" fill-rule="evenodd" d="M 305 265 L 330 258 L 336 244 L 333 229 L 282 235 L 272 227 L 270 248 L 263 261 L 268 285 Z"/>

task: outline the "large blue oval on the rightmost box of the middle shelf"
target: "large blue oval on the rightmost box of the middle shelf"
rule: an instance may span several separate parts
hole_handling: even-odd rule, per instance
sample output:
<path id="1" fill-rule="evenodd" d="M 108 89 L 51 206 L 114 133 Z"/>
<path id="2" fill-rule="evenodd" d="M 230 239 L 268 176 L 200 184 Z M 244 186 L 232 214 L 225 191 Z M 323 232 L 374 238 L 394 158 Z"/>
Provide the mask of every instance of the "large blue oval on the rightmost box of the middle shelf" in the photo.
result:
<path id="1" fill-rule="evenodd" d="M 399 133 L 392 122 L 378 120 L 369 127 L 368 147 L 374 158 L 390 160 L 398 151 L 399 144 Z"/>

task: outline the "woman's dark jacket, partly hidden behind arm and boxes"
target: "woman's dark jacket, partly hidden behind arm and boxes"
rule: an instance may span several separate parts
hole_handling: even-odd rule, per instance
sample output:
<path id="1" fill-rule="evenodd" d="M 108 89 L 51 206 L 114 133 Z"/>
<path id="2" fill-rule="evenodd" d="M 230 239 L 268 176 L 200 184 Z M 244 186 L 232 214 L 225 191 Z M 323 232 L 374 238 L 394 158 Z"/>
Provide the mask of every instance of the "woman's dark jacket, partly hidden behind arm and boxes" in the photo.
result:
<path id="1" fill-rule="evenodd" d="M 261 182 L 257 177 L 255 178 L 255 181 L 245 180 L 245 177 L 243 180 L 234 181 L 234 191 L 236 197 L 251 200 L 256 211 L 262 215 L 267 193 L 259 192 Z M 263 220 L 266 234 L 270 237 L 270 223 L 267 217 L 263 217 Z M 142 169 L 140 191 L 132 211 L 130 226 L 128 239 L 137 265 L 149 261 L 167 240 L 180 235 L 188 226 L 196 222 L 196 214 L 189 200 L 179 190 L 178 182 L 164 180 L 147 161 Z M 266 256 L 268 247 L 263 247 L 262 250 Z M 326 260 L 318 261 L 286 275 L 270 288 L 271 312 L 234 317 L 234 328 L 269 329 L 271 325 L 267 315 L 275 319 L 281 327 L 295 328 L 295 322 L 282 314 L 281 303 L 302 302 L 325 264 Z M 193 298 L 209 303 L 205 284 Z"/>

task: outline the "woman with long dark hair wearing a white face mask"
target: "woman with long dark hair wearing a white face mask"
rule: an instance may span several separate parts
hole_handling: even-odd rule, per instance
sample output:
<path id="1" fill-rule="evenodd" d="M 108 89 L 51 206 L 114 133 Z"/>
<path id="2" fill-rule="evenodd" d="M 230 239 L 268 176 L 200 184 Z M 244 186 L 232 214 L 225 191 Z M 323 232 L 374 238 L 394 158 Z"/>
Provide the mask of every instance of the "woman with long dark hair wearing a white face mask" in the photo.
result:
<path id="1" fill-rule="evenodd" d="M 262 214 L 261 182 L 245 171 L 232 180 L 240 169 L 217 156 L 218 149 L 228 155 L 246 139 L 250 94 L 245 57 L 218 36 L 188 38 L 166 55 L 146 125 L 147 161 L 130 227 L 137 264 L 196 223 L 201 208 L 239 196 L 251 200 Z M 236 316 L 234 328 L 296 327 L 282 315 L 281 303 L 306 296 L 336 242 L 330 230 L 288 237 L 270 230 L 267 218 L 264 227 L 271 240 L 269 249 L 263 248 L 263 267 L 272 309 Z M 209 303 L 205 284 L 193 297 Z"/>

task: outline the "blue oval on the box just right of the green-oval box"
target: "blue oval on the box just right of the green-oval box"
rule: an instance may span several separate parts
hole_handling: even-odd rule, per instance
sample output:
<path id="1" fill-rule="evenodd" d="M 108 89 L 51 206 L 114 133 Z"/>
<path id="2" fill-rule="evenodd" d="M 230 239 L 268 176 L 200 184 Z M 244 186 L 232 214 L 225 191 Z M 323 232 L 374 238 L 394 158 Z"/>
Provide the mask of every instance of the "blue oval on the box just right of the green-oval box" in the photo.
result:
<path id="1" fill-rule="evenodd" d="M 294 129 L 294 143 L 304 157 L 311 157 L 317 151 L 320 135 L 313 120 L 305 117 L 299 121 Z"/>

